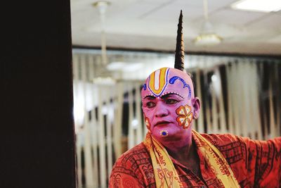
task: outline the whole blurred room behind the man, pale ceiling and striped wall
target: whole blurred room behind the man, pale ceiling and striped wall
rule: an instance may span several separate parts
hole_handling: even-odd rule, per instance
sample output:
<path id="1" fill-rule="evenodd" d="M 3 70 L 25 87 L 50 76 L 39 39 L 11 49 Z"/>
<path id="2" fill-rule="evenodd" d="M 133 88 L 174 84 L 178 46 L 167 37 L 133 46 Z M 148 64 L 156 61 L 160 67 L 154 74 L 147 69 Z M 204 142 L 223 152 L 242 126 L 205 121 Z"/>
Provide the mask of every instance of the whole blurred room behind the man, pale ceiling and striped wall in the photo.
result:
<path id="1" fill-rule="evenodd" d="M 174 66 L 183 11 L 185 69 L 202 101 L 194 128 L 281 135 L 281 1 L 71 0 L 79 187 L 107 187 L 116 159 L 142 142 L 141 87 Z"/>

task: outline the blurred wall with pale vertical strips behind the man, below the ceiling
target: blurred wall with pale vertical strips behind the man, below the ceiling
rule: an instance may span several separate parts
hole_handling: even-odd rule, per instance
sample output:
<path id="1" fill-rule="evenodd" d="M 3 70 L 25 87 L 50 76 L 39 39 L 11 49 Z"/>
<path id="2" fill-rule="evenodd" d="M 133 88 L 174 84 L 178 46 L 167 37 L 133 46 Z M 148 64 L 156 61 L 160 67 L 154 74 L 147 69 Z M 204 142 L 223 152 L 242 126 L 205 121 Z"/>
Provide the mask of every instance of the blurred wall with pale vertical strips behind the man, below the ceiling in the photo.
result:
<path id="1" fill-rule="evenodd" d="M 142 142 L 147 132 L 141 111 L 142 84 L 149 73 L 162 67 L 161 62 L 171 61 L 171 54 L 107 53 L 110 63 L 117 59 L 144 62 L 148 70 L 111 73 L 101 63 L 99 51 L 74 49 L 79 186 L 106 187 L 115 160 Z M 195 130 L 251 139 L 281 135 L 280 87 L 273 87 L 280 85 L 280 59 L 203 55 L 185 59 L 191 64 L 187 71 L 202 103 Z"/>

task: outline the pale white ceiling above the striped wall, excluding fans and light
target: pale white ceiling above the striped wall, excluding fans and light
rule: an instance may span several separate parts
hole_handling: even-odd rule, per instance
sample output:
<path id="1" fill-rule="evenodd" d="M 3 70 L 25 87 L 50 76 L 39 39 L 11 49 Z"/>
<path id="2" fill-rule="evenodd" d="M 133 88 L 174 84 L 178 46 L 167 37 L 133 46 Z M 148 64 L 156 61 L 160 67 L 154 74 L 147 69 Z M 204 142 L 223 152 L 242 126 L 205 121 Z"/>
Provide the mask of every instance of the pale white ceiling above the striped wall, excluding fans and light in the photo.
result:
<path id="1" fill-rule="evenodd" d="M 204 21 L 202 0 L 108 0 L 107 47 L 174 51 L 178 16 L 183 10 L 186 52 L 281 55 L 281 11 L 259 13 L 230 8 L 234 0 L 209 0 L 209 20 L 223 38 L 215 46 L 196 46 Z M 96 1 L 71 0 L 72 44 L 101 46 L 101 19 Z"/>

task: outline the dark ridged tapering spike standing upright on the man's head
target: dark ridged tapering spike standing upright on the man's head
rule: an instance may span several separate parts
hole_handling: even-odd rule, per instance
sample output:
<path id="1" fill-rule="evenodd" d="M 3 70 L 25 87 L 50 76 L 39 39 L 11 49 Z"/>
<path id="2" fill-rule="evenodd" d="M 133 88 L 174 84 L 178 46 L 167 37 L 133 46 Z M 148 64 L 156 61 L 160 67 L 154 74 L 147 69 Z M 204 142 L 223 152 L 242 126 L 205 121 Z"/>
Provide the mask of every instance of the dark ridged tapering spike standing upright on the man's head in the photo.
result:
<path id="1" fill-rule="evenodd" d="M 176 36 L 176 54 L 174 68 L 184 70 L 184 49 L 183 49 L 183 13 L 178 18 L 178 34 Z"/>

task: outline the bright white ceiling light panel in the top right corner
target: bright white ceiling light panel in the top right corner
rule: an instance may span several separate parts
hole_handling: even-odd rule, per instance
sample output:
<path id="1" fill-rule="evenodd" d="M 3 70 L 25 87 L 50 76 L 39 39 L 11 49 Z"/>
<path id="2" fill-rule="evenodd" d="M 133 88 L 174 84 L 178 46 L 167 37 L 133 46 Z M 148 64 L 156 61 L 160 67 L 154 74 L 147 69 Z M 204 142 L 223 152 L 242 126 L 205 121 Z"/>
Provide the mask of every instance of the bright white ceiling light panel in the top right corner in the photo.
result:
<path id="1" fill-rule="evenodd" d="M 234 9 L 243 11 L 276 12 L 281 10 L 280 0 L 240 0 L 231 4 Z"/>

